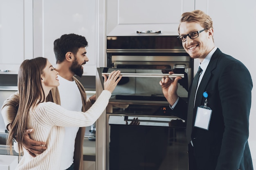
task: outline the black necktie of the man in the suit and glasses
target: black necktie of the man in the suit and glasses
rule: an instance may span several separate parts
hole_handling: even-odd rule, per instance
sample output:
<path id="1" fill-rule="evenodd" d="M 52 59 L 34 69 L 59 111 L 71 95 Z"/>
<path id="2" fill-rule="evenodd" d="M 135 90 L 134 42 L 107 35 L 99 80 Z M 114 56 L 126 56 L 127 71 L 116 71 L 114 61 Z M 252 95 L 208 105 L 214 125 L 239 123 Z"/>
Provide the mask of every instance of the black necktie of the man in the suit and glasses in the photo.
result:
<path id="1" fill-rule="evenodd" d="M 189 95 L 189 105 L 188 105 L 188 117 L 186 120 L 186 138 L 188 143 L 191 141 L 191 131 L 192 131 L 192 122 L 193 122 L 193 111 L 194 111 L 194 102 L 195 102 L 195 92 L 198 87 L 198 80 L 202 69 L 199 67 L 198 72 L 195 74 L 193 79 L 190 95 Z"/>

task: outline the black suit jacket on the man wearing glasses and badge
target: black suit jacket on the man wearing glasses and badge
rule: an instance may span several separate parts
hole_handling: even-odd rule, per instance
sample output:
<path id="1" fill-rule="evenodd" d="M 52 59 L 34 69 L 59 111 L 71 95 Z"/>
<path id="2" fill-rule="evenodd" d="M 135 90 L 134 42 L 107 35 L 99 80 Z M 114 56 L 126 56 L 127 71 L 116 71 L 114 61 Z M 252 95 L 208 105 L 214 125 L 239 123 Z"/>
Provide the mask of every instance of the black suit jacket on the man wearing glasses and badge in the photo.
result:
<path id="1" fill-rule="evenodd" d="M 247 141 L 251 91 L 245 65 L 217 49 L 198 87 L 193 112 L 192 124 L 207 92 L 207 106 L 212 109 L 209 130 L 193 126 L 191 134 L 198 170 L 253 170 Z M 180 99 L 174 111 L 186 120 L 187 103 Z"/>

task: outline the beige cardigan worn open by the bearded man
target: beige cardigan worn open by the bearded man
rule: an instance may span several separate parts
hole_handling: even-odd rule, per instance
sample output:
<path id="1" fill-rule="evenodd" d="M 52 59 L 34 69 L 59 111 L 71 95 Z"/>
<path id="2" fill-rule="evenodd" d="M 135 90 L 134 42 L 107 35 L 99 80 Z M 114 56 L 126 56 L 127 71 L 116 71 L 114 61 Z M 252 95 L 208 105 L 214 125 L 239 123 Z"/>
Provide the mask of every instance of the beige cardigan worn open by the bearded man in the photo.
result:
<path id="1" fill-rule="evenodd" d="M 76 82 L 79 91 L 81 93 L 83 112 L 87 111 L 91 106 L 92 103 L 90 100 L 86 98 L 86 93 L 83 85 L 73 76 L 74 81 Z M 16 92 L 12 96 L 10 96 L 7 100 L 4 101 L 1 112 L 2 117 L 4 119 L 4 123 L 7 126 L 10 124 L 16 116 L 17 110 L 18 110 L 18 104 L 19 104 L 19 93 Z M 47 96 L 47 101 L 55 102 L 56 104 L 60 105 L 60 95 L 58 92 L 58 87 L 53 88 L 49 95 Z M 74 165 L 75 170 L 83 170 L 83 139 L 85 134 L 85 127 L 79 128 L 79 131 L 76 134 L 75 139 L 75 150 L 74 150 Z"/>

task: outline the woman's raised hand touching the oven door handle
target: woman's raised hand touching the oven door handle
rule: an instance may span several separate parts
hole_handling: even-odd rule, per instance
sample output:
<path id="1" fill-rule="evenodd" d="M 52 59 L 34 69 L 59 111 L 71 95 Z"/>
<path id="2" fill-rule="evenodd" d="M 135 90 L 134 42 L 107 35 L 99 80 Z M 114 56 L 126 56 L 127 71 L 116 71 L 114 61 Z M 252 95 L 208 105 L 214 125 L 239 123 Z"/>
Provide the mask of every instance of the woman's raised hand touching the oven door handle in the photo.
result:
<path id="1" fill-rule="evenodd" d="M 121 80 L 122 76 L 120 76 L 121 71 L 112 71 L 108 78 L 106 75 L 104 76 L 104 90 L 108 90 L 111 93 L 114 91 L 114 89 L 117 87 L 117 83 Z"/>

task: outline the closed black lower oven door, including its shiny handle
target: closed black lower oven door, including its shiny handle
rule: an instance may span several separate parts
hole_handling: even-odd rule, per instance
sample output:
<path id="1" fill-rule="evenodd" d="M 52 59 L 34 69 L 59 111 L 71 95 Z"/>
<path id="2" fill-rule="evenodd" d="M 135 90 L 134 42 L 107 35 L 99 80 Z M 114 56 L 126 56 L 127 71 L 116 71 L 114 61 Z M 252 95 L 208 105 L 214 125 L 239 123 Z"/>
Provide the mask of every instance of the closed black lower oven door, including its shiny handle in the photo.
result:
<path id="1" fill-rule="evenodd" d="M 107 113 L 106 170 L 187 170 L 185 122 Z"/>

